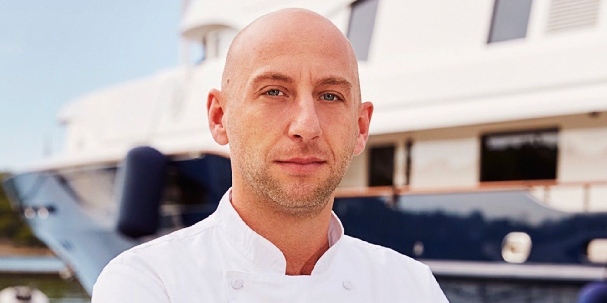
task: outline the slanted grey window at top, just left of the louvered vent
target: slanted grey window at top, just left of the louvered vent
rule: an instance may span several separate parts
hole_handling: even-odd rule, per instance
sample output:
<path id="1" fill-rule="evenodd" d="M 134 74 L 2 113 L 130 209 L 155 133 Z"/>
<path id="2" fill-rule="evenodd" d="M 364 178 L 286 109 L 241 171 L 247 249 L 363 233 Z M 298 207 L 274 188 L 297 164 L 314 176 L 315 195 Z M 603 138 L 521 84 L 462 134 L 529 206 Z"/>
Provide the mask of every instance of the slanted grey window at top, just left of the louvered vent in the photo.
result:
<path id="1" fill-rule="evenodd" d="M 489 43 L 524 38 L 531 12 L 531 0 L 495 0 Z"/>

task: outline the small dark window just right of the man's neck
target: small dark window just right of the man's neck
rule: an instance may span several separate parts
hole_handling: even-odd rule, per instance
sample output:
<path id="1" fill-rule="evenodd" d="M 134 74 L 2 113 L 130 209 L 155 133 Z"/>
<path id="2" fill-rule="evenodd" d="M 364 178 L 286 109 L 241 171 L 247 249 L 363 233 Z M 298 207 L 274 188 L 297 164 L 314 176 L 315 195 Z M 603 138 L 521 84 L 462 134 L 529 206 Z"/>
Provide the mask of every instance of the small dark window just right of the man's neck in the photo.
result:
<path id="1" fill-rule="evenodd" d="M 369 186 L 392 186 L 394 183 L 394 145 L 371 147 Z"/>

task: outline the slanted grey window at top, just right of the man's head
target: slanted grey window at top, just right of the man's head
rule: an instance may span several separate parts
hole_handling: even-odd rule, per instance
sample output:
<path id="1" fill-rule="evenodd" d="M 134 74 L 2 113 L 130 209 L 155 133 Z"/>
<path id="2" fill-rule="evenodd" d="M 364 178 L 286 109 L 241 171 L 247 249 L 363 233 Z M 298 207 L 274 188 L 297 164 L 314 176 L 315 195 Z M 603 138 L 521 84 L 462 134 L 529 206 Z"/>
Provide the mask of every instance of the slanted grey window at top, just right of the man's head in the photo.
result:
<path id="1" fill-rule="evenodd" d="M 378 0 L 358 0 L 351 7 L 347 36 L 354 48 L 356 58 L 367 60 Z"/>

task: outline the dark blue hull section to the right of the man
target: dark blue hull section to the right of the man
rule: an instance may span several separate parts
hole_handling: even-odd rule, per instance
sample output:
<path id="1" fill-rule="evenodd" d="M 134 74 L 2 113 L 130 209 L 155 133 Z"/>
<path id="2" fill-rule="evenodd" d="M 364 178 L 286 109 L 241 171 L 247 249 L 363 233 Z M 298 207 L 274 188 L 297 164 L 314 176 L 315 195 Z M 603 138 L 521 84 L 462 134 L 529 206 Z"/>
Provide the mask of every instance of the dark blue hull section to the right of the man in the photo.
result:
<path id="1" fill-rule="evenodd" d="M 336 199 L 346 232 L 422 259 L 498 261 L 510 232 L 527 233 L 526 262 L 591 264 L 586 247 L 607 238 L 607 213 L 565 213 L 524 190 Z M 414 253 L 415 244 L 422 253 Z"/>

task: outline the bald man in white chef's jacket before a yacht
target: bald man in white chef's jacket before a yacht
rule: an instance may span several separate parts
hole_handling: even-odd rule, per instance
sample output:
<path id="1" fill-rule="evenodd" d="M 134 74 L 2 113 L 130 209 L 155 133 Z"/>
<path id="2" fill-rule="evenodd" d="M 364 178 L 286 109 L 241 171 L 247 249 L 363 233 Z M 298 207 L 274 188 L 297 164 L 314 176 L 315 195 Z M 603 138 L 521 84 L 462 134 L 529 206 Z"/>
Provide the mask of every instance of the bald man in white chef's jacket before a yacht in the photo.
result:
<path id="1" fill-rule="evenodd" d="M 112 260 L 93 303 L 447 302 L 426 265 L 344 235 L 331 211 L 373 105 L 330 21 L 300 9 L 254 21 L 207 108 L 232 188 L 209 218 Z"/>

